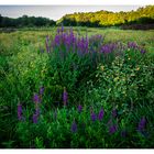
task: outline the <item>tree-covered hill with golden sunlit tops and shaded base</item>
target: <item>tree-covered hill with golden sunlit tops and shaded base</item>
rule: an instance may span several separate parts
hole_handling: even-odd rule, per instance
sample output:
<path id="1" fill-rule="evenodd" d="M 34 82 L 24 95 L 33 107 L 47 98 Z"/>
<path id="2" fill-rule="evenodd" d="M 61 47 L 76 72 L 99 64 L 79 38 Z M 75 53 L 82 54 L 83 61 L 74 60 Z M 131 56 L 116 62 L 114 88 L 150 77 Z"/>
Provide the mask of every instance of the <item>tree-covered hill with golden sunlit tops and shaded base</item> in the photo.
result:
<path id="1" fill-rule="evenodd" d="M 136 11 L 129 12 L 86 12 L 66 14 L 57 24 L 66 26 L 116 26 L 129 24 L 153 24 L 154 23 L 154 6 L 139 8 Z"/>

